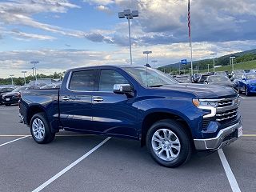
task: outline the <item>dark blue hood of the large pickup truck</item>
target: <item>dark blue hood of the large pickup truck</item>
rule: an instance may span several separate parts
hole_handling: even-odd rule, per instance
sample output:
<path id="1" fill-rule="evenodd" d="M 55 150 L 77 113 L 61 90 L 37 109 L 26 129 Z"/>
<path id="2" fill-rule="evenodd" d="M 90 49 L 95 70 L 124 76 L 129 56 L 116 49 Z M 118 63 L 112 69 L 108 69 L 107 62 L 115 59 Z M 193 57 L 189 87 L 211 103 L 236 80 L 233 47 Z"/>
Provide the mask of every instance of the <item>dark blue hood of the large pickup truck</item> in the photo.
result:
<path id="1" fill-rule="evenodd" d="M 158 90 L 173 90 L 194 94 L 198 98 L 232 98 L 238 95 L 237 91 L 228 86 L 215 86 L 193 83 L 180 83 L 157 87 Z"/>

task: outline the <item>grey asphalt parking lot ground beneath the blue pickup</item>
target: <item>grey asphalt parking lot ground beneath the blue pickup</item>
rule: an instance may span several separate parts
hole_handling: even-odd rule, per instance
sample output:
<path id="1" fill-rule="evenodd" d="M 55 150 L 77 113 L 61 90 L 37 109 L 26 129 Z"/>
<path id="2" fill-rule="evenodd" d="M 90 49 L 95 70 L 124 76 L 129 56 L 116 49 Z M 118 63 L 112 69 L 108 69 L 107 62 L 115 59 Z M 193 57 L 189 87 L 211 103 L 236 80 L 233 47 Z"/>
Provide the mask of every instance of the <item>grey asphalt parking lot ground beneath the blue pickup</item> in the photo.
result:
<path id="1" fill-rule="evenodd" d="M 18 106 L 0 106 L 0 191 L 255 192 L 256 96 L 242 95 L 240 111 L 243 136 L 223 149 L 227 165 L 218 151 L 169 169 L 131 140 L 61 131 L 38 145 L 18 123 Z"/>

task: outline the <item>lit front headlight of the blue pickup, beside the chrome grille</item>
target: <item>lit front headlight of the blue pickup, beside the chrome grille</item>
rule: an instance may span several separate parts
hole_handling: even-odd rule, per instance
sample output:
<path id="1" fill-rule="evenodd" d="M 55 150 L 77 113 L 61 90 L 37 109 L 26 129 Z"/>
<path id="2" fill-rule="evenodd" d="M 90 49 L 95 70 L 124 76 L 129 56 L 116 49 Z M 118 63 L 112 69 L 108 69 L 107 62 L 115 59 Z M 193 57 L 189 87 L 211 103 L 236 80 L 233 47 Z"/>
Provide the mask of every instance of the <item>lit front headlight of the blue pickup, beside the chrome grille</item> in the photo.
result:
<path id="1" fill-rule="evenodd" d="M 218 102 L 212 101 L 200 101 L 198 99 L 192 100 L 194 106 L 197 106 L 202 110 L 209 110 L 209 114 L 203 116 L 203 118 L 212 118 L 216 115 L 216 107 L 218 106 Z"/>

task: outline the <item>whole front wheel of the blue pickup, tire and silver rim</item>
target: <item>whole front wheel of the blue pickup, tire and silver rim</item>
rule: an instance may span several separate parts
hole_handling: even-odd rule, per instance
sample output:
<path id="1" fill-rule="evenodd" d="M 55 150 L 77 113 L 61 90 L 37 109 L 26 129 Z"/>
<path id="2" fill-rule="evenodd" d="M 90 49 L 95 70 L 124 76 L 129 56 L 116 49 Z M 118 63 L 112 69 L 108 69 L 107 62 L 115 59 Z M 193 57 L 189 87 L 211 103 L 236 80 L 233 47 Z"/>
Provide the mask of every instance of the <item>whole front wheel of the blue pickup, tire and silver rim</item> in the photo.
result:
<path id="1" fill-rule="evenodd" d="M 146 145 L 161 166 L 181 166 L 192 154 L 190 137 L 182 125 L 173 120 L 155 122 L 146 135 Z"/>

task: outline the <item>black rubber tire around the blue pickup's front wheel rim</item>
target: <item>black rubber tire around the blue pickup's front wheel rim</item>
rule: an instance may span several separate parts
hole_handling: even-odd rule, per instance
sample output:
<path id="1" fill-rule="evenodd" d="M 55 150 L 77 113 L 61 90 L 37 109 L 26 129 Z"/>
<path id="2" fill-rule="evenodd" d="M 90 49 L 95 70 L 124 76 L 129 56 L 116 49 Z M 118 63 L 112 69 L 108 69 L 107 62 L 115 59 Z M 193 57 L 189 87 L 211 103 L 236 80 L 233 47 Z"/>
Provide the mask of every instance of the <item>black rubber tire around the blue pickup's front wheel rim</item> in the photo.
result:
<path id="1" fill-rule="evenodd" d="M 155 154 L 152 144 L 152 137 L 154 136 L 154 133 L 156 133 L 158 130 L 166 129 L 170 130 L 174 134 L 176 134 L 179 142 L 180 142 L 180 151 L 177 156 L 177 158 L 174 158 L 173 160 L 163 160 L 162 158 L 159 158 L 157 154 Z M 192 144 L 190 141 L 189 135 L 186 133 L 186 130 L 184 130 L 184 127 L 179 124 L 178 122 L 175 122 L 174 120 L 170 119 L 164 119 L 158 122 L 155 122 L 153 126 L 150 127 L 150 130 L 148 130 L 146 134 L 146 146 L 147 149 L 150 152 L 151 157 L 154 159 L 155 162 L 158 162 L 161 166 L 166 167 L 178 167 L 181 166 L 183 163 L 188 161 L 192 154 Z M 167 154 L 167 152 L 166 152 Z"/>

